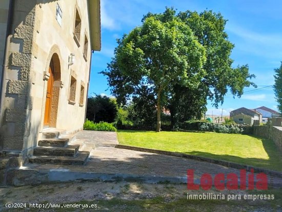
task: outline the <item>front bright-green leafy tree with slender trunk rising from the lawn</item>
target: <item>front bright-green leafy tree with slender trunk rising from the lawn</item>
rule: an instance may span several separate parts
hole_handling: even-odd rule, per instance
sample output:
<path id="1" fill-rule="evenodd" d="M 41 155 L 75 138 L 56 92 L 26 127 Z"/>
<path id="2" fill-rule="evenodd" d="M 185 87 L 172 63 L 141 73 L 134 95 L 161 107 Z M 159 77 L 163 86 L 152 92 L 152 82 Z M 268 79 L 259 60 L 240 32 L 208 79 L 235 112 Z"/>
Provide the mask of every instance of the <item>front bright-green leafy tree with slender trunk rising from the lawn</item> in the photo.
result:
<path id="1" fill-rule="evenodd" d="M 157 126 L 170 88 L 197 88 L 205 76 L 205 49 L 192 30 L 167 10 L 162 18 L 147 17 L 140 27 L 118 40 L 115 56 L 102 72 L 119 101 L 150 94 L 156 99 Z"/>

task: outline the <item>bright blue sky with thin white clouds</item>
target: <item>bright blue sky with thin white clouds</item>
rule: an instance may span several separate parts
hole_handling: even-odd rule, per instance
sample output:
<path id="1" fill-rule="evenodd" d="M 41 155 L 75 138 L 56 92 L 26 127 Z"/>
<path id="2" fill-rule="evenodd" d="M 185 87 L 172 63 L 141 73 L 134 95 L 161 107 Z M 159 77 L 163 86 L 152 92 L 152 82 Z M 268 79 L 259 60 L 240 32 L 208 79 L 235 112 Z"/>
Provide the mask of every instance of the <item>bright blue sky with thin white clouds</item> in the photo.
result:
<path id="1" fill-rule="evenodd" d="M 205 9 L 220 12 L 225 19 L 229 40 L 235 44 L 231 58 L 233 67 L 248 63 L 249 71 L 255 74 L 253 81 L 258 88 L 274 84 L 274 69 L 282 60 L 282 1 L 241 1 L 241 0 L 101 0 L 102 50 L 92 54 L 89 95 L 110 95 L 107 79 L 98 72 L 107 68 L 113 57 L 116 38 L 129 33 L 141 24 L 148 12 L 162 13 L 165 7 L 178 11 Z M 253 87 L 244 91 L 254 90 Z M 241 98 L 226 96 L 219 109 L 208 104 L 208 114 L 229 115 L 229 111 L 240 107 L 257 108 L 266 106 L 276 110 L 273 88 L 247 92 Z"/>

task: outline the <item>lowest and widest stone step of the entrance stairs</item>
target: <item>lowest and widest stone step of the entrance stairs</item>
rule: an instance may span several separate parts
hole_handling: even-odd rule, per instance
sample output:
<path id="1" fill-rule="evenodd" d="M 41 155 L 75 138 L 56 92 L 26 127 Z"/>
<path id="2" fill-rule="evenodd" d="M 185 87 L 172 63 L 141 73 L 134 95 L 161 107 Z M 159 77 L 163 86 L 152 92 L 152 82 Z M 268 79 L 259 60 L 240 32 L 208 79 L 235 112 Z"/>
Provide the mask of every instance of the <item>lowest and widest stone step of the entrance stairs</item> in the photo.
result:
<path id="1" fill-rule="evenodd" d="M 89 153 L 78 152 L 75 157 L 68 156 L 32 156 L 29 158 L 30 163 L 45 164 L 64 164 L 64 165 L 84 165 L 87 162 Z"/>

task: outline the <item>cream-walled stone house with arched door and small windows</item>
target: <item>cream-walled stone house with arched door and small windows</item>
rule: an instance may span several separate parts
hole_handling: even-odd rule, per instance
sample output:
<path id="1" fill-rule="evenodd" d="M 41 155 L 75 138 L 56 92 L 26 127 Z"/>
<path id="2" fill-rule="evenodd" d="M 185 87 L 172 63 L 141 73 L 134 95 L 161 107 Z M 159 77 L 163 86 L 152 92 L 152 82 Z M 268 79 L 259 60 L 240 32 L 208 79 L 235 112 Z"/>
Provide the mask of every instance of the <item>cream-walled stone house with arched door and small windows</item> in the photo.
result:
<path id="1" fill-rule="evenodd" d="M 31 157 L 45 131 L 85 121 L 100 0 L 1 0 L 0 156 Z"/>

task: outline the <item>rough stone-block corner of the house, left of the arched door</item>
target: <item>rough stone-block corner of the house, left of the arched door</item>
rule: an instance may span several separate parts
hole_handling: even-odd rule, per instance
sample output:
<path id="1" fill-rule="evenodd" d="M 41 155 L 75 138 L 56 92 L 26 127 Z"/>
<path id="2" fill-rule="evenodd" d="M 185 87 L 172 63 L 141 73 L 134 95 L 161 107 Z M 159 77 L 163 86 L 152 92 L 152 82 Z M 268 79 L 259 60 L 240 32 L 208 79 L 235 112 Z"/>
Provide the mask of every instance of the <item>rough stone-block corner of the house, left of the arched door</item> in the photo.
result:
<path id="1" fill-rule="evenodd" d="M 31 132 L 29 116 L 33 105 L 31 88 L 34 83 L 32 60 L 36 55 L 34 31 L 38 23 L 34 21 L 36 0 L 16 0 L 12 4 L 12 26 L 6 44 L 8 57 L 4 61 L 8 67 L 2 87 L 1 146 L 4 151 L 21 153 Z"/>

